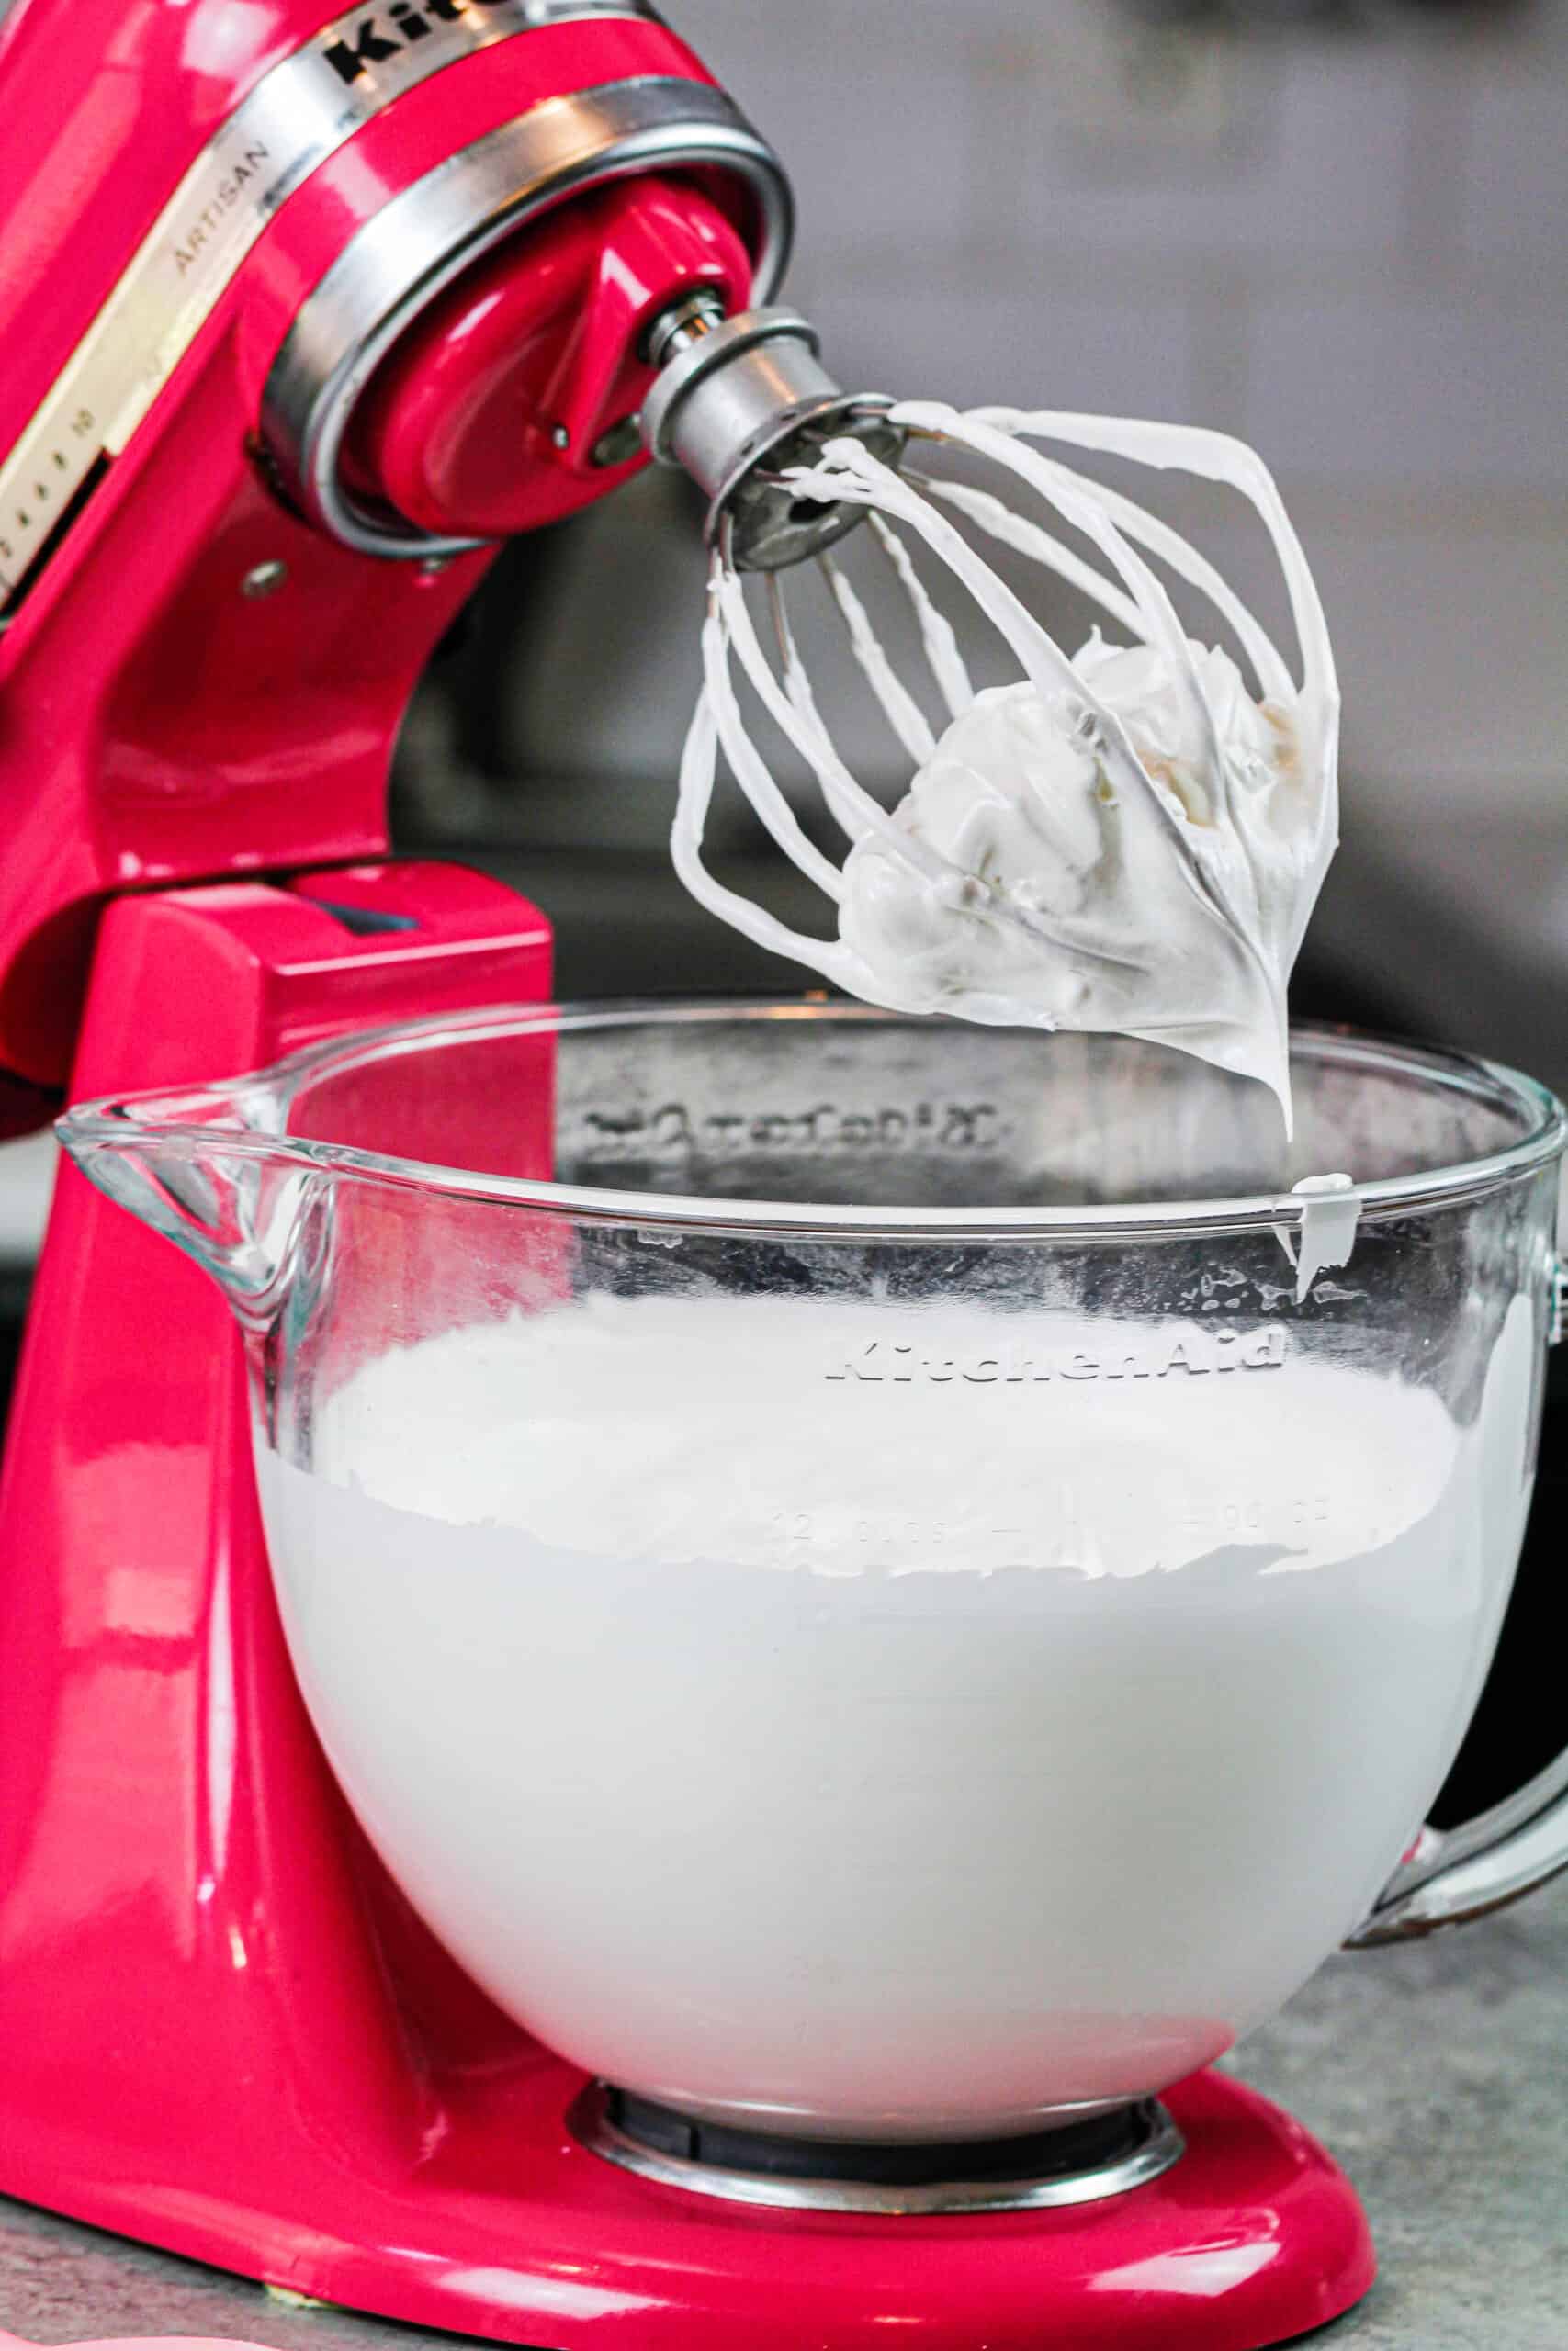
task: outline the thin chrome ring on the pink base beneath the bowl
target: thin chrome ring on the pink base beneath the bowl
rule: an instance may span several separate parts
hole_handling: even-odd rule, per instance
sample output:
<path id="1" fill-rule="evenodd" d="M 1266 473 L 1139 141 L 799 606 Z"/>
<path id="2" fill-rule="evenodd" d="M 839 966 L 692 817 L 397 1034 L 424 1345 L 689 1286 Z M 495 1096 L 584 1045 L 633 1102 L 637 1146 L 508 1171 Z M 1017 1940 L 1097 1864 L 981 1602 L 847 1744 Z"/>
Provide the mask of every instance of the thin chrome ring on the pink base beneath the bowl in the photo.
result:
<path id="1" fill-rule="evenodd" d="M 1159 2179 L 1187 2151 L 1187 2142 L 1157 2097 L 1138 2104 L 1143 2144 L 1133 2154 L 1095 2170 L 1058 2172 L 1051 2179 L 945 2179 L 940 2186 L 882 2186 L 853 2179 L 783 2179 L 764 2172 L 729 2172 L 715 2163 L 691 2163 L 684 2156 L 656 2154 L 628 2139 L 607 2111 L 602 2083 L 592 2083 L 574 2106 L 569 2123 L 578 2142 L 604 2163 L 618 2163 L 639 2179 L 689 2196 L 717 2196 L 724 2203 L 773 2205 L 790 2212 L 884 2212 L 924 2217 L 933 2212 L 1051 2212 L 1070 2205 L 1126 2196 L 1128 2189 Z"/>

